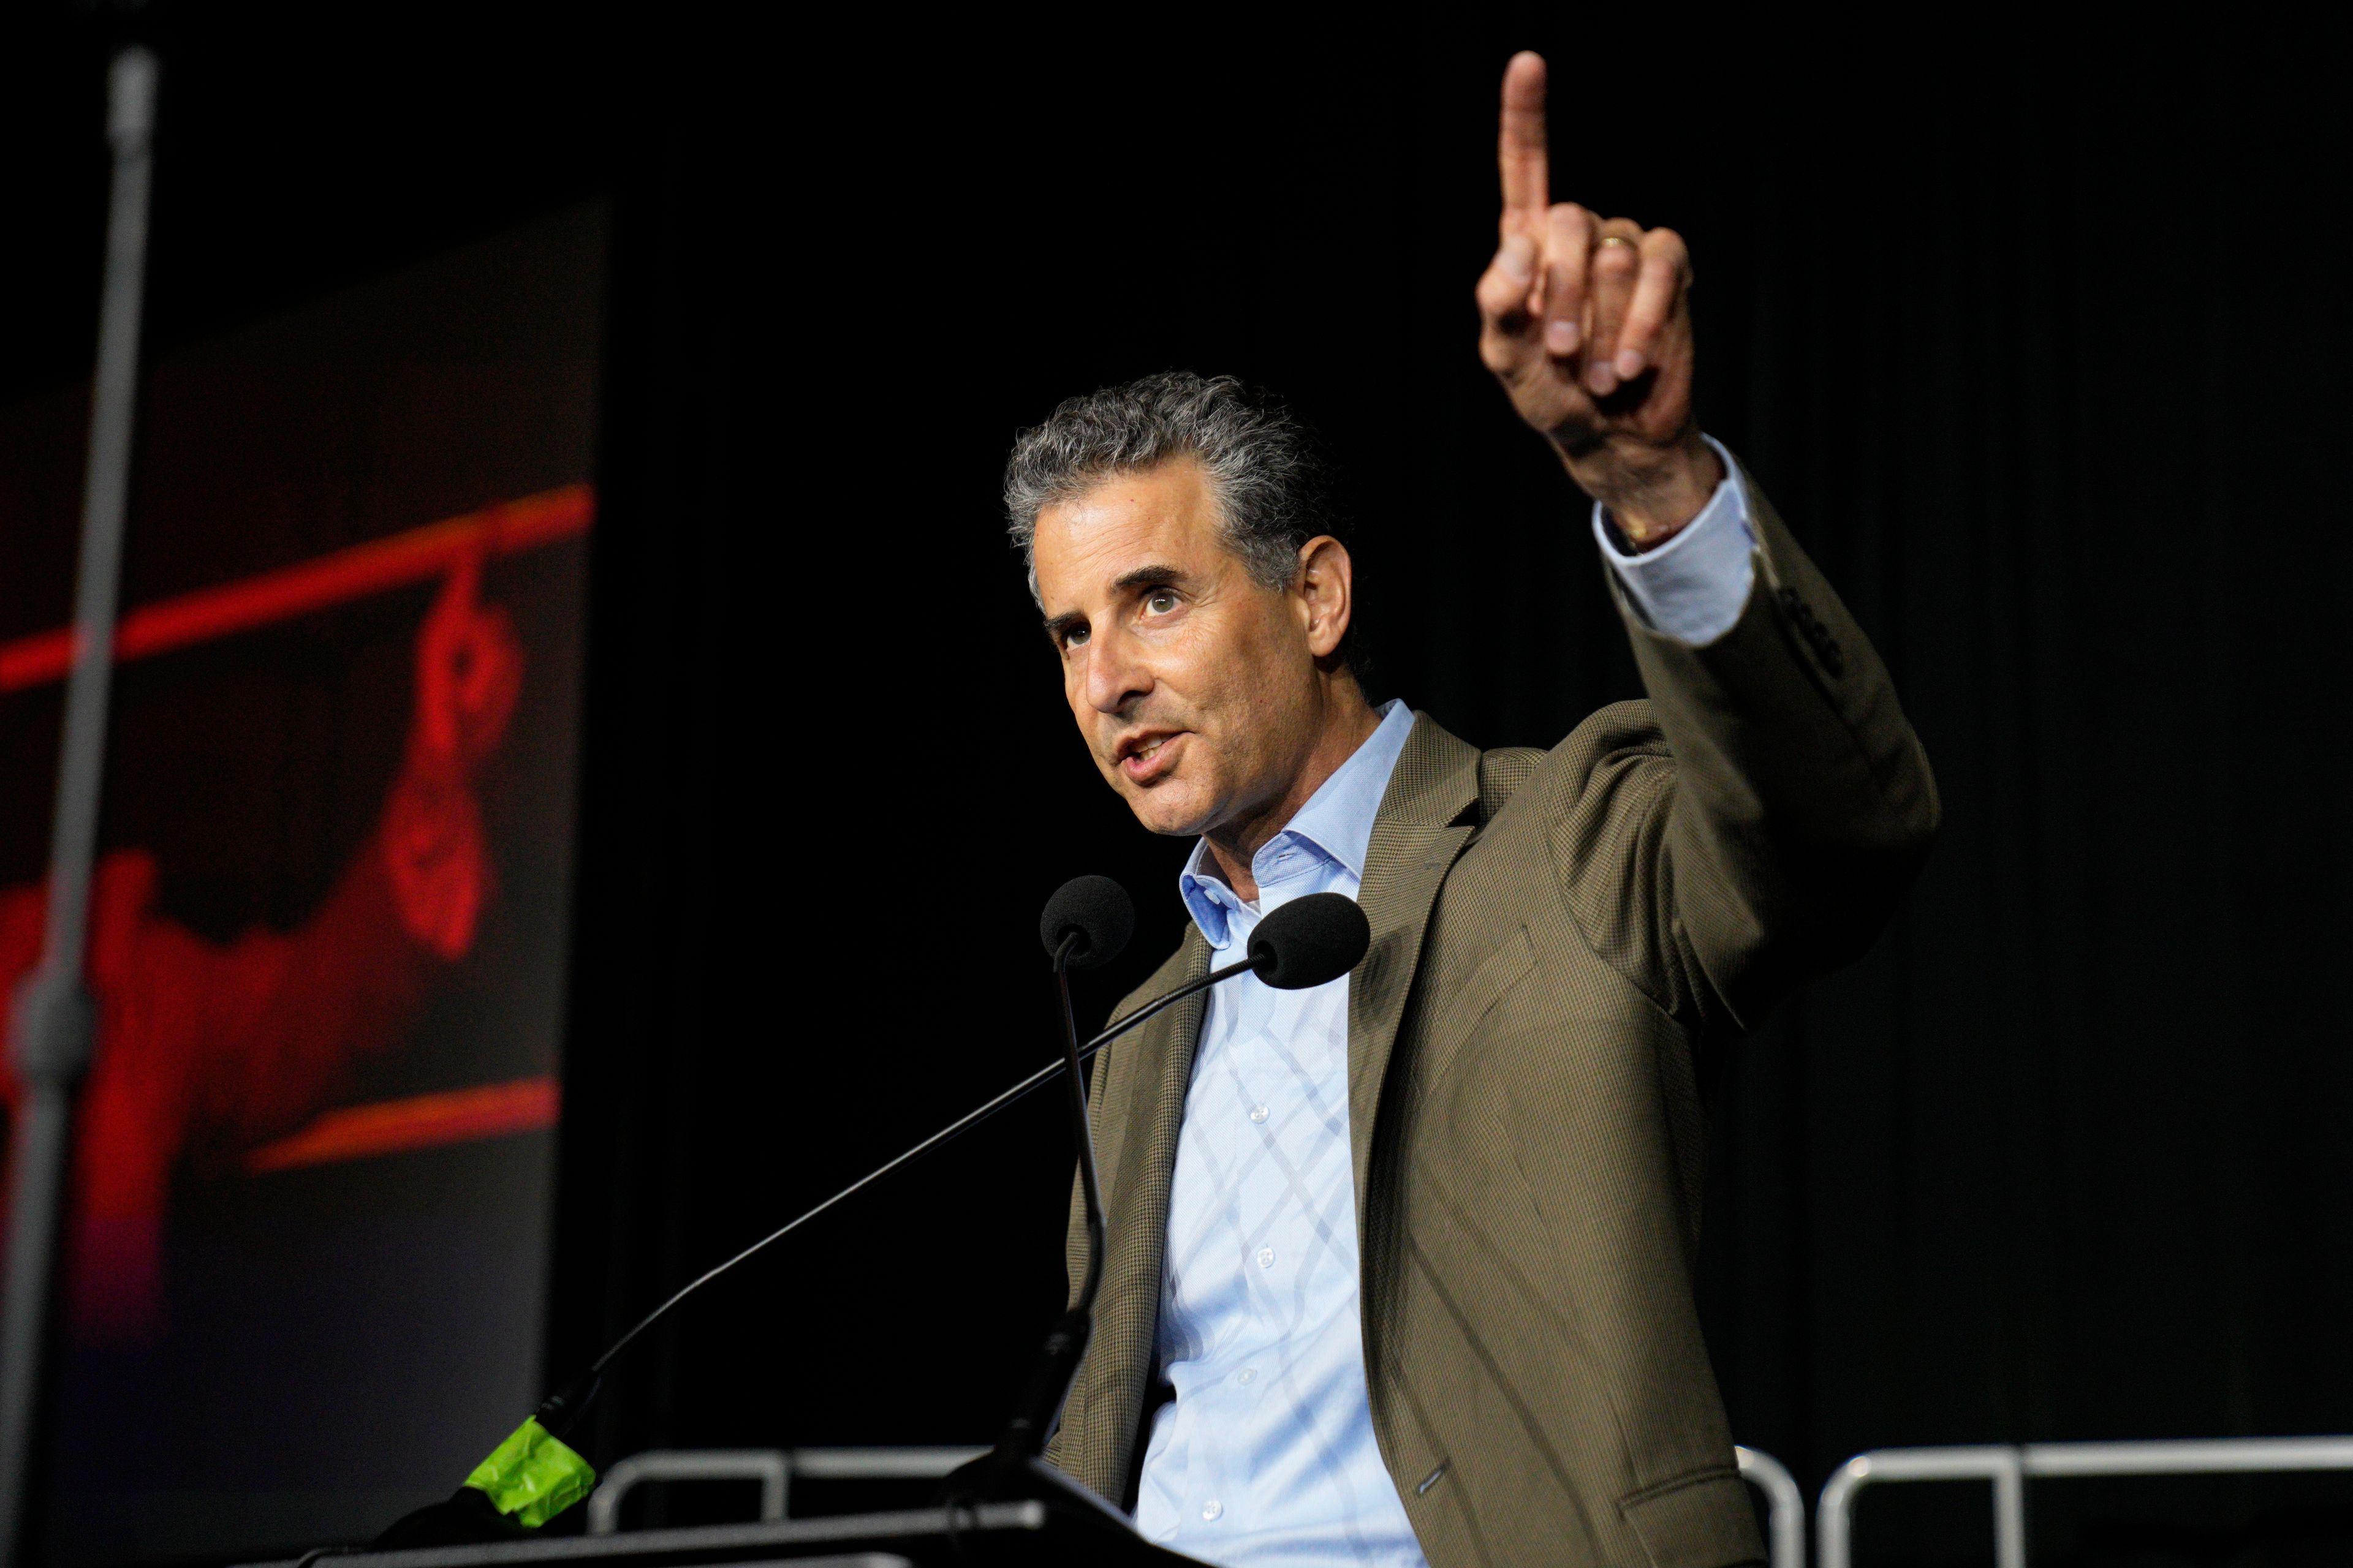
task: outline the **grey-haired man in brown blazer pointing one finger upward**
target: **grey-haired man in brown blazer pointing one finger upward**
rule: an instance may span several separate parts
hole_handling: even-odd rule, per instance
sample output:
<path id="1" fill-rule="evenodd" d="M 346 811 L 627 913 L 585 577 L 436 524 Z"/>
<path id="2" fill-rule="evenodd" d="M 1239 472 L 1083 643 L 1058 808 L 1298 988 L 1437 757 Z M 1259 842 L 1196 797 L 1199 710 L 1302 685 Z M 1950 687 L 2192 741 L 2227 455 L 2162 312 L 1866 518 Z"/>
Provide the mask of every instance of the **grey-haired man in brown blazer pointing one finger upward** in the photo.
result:
<path id="1" fill-rule="evenodd" d="M 1937 825 L 1871 644 L 1692 418 L 1682 240 L 1548 202 L 1534 54 L 1501 165 L 1480 355 L 1595 501 L 1649 703 L 1485 755 L 1372 710 L 1299 433 L 1231 381 L 1071 400 L 1007 465 L 1096 766 L 1198 837 L 1120 1011 L 1292 898 L 1372 924 L 1351 976 L 1231 980 L 1096 1067 L 1049 1458 L 1214 1563 L 1762 1556 L 1692 1307 L 1692 1056 L 1861 952 Z"/>

